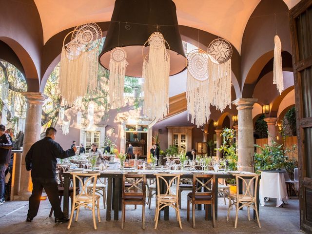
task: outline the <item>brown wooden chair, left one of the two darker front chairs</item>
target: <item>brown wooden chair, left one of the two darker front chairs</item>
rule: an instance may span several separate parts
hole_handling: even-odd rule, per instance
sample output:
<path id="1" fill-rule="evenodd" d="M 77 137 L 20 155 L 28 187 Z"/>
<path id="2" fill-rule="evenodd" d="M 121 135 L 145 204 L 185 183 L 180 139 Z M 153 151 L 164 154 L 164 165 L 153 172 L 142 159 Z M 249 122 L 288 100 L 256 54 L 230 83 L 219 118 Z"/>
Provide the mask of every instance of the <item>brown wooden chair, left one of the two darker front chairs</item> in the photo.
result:
<path id="1" fill-rule="evenodd" d="M 129 184 L 130 186 L 125 186 Z M 146 197 L 145 175 L 123 174 L 121 229 L 123 229 L 125 222 L 126 205 L 142 205 L 142 229 L 145 229 L 145 197 Z"/>

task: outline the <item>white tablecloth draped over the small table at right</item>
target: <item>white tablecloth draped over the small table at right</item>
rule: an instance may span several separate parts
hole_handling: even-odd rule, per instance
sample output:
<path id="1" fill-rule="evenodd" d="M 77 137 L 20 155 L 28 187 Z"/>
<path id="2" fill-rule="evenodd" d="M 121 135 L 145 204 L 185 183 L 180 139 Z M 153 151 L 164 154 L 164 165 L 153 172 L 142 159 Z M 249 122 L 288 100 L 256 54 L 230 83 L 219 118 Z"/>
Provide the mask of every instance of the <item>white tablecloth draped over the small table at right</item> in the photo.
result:
<path id="1" fill-rule="evenodd" d="M 259 189 L 261 206 L 265 205 L 265 197 L 276 198 L 276 207 L 283 204 L 283 199 L 288 199 L 283 173 L 261 172 Z"/>

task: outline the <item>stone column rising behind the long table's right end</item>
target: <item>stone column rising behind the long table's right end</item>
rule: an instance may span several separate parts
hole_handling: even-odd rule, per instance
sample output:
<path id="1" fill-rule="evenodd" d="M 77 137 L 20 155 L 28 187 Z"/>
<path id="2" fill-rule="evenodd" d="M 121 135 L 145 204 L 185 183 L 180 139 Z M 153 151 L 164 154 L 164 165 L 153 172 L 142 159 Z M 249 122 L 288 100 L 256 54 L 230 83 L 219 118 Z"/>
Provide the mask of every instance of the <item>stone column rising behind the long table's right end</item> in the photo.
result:
<path id="1" fill-rule="evenodd" d="M 252 109 L 256 98 L 233 101 L 238 110 L 238 163 L 240 171 L 254 172 L 254 126 Z"/>

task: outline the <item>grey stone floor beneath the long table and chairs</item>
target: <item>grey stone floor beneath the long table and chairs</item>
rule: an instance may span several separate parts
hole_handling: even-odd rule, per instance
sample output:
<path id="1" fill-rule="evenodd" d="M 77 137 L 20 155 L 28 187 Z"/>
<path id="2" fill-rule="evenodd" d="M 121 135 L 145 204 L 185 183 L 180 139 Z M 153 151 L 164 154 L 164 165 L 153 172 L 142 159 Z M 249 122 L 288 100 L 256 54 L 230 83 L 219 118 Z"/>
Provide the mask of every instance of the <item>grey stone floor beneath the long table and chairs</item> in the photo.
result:
<path id="1" fill-rule="evenodd" d="M 170 220 L 164 221 L 163 217 L 158 223 L 157 230 L 154 230 L 154 213 L 155 200 L 152 200 L 151 210 L 146 206 L 146 229 L 141 229 L 141 208 L 137 210 L 134 206 L 128 206 L 126 210 L 126 222 L 124 230 L 120 229 L 119 212 L 118 221 L 106 221 L 106 212 L 101 207 L 101 223 L 98 223 L 98 230 L 93 229 L 91 211 L 80 209 L 78 222 L 73 222 L 71 228 L 67 229 L 67 224 L 55 224 L 54 218 L 48 217 L 50 212 L 50 203 L 48 200 L 41 201 L 38 216 L 31 223 L 26 223 L 26 215 L 28 210 L 28 202 L 11 201 L 5 202 L 0 206 L 0 234 L 137 234 L 137 233 L 274 233 L 274 234 L 296 234 L 299 232 L 299 201 L 296 198 L 288 200 L 288 204 L 284 207 L 275 207 L 275 199 L 266 203 L 266 206 L 260 207 L 260 222 L 262 228 L 258 228 L 255 221 L 248 221 L 247 211 L 244 209 L 239 212 L 238 227 L 234 229 L 234 215 L 232 210 L 230 220 L 226 221 L 227 206 L 224 205 L 223 198 L 219 199 L 218 220 L 216 228 L 212 227 L 211 221 L 205 221 L 204 211 L 196 211 L 196 228 L 192 228 L 192 224 L 186 220 L 186 194 L 182 196 L 181 230 L 176 221 L 174 210 L 170 210 Z M 12 213 L 13 212 L 13 213 Z M 114 217 L 114 216 L 113 216 Z"/>

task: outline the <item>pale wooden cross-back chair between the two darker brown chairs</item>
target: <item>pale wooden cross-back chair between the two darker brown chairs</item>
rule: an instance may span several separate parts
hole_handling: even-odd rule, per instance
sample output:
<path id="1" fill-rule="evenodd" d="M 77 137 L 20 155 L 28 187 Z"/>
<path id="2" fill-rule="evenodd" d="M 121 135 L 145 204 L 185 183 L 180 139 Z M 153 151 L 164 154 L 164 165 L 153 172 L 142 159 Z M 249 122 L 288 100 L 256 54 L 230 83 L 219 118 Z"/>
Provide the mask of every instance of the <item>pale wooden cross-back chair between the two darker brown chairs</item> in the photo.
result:
<path id="1" fill-rule="evenodd" d="M 178 189 L 179 186 L 176 186 L 176 192 L 171 191 L 172 184 L 177 180 L 177 184 L 180 182 L 180 176 L 182 174 L 154 174 L 156 176 L 157 183 L 157 195 L 156 195 L 156 213 L 155 213 L 155 229 L 158 224 L 159 211 L 165 208 L 166 206 L 172 207 L 176 210 L 176 220 L 179 222 L 179 226 L 182 229 L 180 210 L 179 210 L 179 196 Z M 165 192 L 161 193 L 160 183 L 162 182 L 165 185 Z M 168 182 L 169 181 L 169 182 Z"/>

